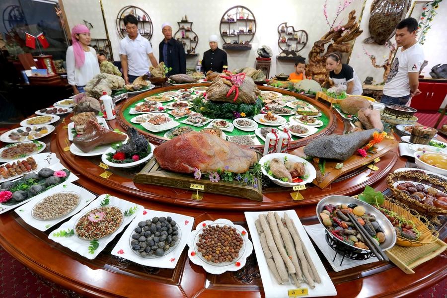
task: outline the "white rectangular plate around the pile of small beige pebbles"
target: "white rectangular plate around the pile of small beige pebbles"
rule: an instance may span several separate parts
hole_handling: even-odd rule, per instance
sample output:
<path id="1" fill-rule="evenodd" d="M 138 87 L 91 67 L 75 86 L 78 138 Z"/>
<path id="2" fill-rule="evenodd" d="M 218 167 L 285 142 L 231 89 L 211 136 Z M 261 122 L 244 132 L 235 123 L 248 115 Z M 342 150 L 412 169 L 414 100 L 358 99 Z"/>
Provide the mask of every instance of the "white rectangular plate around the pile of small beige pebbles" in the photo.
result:
<path id="1" fill-rule="evenodd" d="M 59 192 L 71 192 L 75 193 L 80 197 L 79 203 L 77 206 L 67 215 L 60 217 L 58 219 L 54 220 L 38 220 L 32 216 L 32 211 L 34 209 L 34 206 L 41 202 L 46 197 L 49 197 L 53 194 L 59 193 Z M 96 195 L 92 194 L 91 192 L 87 191 L 83 187 L 79 187 L 77 185 L 74 185 L 72 183 L 63 183 L 59 184 L 53 188 L 51 188 L 48 192 L 38 194 L 34 197 L 34 200 L 24 204 L 22 207 L 17 208 L 15 210 L 15 213 L 17 213 L 25 223 L 31 225 L 34 228 L 37 228 L 40 231 L 46 231 L 50 227 L 54 226 L 55 224 L 58 224 L 60 222 L 63 222 L 64 220 L 68 219 L 69 217 L 73 216 L 74 214 L 78 213 L 82 208 L 87 206 L 88 203 L 91 202 L 96 198 Z"/>

